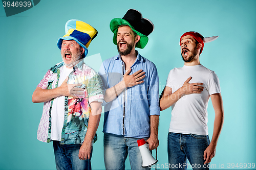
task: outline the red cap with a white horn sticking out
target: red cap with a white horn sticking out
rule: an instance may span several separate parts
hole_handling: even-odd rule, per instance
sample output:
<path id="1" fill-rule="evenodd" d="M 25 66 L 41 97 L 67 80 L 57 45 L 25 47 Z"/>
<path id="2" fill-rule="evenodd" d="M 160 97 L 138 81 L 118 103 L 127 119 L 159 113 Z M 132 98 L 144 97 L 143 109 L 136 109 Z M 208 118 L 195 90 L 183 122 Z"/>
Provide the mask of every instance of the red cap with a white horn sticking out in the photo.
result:
<path id="1" fill-rule="evenodd" d="M 186 36 L 186 35 L 190 35 L 192 37 L 194 37 L 198 42 L 200 42 L 203 46 L 201 48 L 201 51 L 200 51 L 200 54 L 202 53 L 203 51 L 203 48 L 204 48 L 204 43 L 205 42 L 211 42 L 211 41 L 214 41 L 216 40 L 219 36 L 212 36 L 212 37 L 203 37 L 201 34 L 199 34 L 198 32 L 195 32 L 195 31 L 189 31 L 189 32 L 186 32 L 184 33 L 181 37 L 180 37 L 180 41 L 181 41 L 181 38 Z"/>

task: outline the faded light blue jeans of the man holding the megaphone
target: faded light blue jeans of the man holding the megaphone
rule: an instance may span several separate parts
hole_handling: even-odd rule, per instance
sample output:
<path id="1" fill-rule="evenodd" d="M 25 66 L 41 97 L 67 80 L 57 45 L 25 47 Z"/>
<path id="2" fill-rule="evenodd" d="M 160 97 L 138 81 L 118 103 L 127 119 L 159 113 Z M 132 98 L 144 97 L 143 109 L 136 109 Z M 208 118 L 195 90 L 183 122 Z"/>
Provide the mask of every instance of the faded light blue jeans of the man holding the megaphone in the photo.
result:
<path id="1" fill-rule="evenodd" d="M 138 147 L 139 138 L 123 137 L 104 133 L 104 162 L 106 169 L 124 169 L 129 154 L 131 169 L 150 169 L 142 167 L 142 157 Z M 147 138 L 144 138 L 147 140 Z"/>

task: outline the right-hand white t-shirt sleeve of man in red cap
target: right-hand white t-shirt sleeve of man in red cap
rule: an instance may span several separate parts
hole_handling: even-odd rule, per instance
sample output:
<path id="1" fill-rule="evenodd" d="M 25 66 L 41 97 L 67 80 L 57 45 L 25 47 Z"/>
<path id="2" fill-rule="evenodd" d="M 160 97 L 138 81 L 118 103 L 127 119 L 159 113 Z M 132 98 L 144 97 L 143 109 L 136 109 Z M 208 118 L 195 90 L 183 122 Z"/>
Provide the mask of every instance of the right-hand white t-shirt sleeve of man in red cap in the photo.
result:
<path id="1" fill-rule="evenodd" d="M 212 71 L 207 81 L 209 94 L 221 93 L 221 86 L 218 76 Z"/>

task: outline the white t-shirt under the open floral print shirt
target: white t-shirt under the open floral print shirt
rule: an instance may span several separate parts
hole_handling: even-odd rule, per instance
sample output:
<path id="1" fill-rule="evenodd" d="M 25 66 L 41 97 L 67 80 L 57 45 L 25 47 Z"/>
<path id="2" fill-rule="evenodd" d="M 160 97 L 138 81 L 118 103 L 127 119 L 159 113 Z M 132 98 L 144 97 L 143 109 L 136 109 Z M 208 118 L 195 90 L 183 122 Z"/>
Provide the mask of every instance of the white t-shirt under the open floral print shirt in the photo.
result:
<path id="1" fill-rule="evenodd" d="M 67 68 L 66 65 L 63 66 L 63 70 L 61 71 L 61 74 L 59 76 L 59 82 L 58 87 L 61 86 L 61 84 L 66 80 L 67 76 L 70 75 L 73 68 Z M 58 96 L 53 100 L 52 104 L 52 112 L 51 112 L 51 123 L 52 123 L 52 129 L 51 129 L 51 139 L 60 141 L 61 139 L 61 131 L 63 128 L 63 122 L 64 122 L 64 102 L 65 102 L 65 96 Z"/>

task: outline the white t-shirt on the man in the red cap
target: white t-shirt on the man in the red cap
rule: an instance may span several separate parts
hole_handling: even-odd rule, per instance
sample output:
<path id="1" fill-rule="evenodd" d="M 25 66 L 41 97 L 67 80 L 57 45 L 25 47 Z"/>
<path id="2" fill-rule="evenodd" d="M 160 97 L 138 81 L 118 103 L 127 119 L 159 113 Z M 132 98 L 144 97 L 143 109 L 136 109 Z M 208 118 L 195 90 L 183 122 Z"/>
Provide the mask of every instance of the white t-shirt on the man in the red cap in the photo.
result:
<path id="1" fill-rule="evenodd" d="M 169 132 L 208 135 L 207 106 L 211 94 L 220 93 L 219 78 L 203 65 L 186 66 L 170 70 L 166 86 L 177 91 L 189 78 L 189 83 L 203 83 L 202 93 L 183 95 L 172 105 Z"/>

